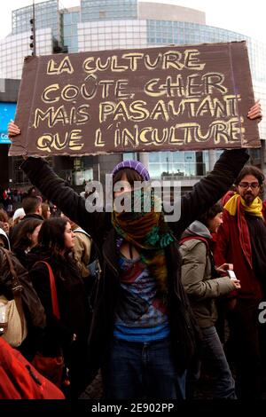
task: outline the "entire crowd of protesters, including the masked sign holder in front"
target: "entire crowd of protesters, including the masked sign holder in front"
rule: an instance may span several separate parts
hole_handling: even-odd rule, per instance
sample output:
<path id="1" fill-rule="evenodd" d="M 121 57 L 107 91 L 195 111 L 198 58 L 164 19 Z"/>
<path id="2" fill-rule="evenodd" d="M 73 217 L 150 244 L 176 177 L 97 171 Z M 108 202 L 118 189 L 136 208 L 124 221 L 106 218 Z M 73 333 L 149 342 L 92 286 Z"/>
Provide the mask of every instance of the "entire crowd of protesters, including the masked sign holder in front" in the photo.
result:
<path id="1" fill-rule="evenodd" d="M 262 117 L 258 103 L 248 117 Z M 20 129 L 12 122 L 9 132 L 14 137 Z M 141 162 L 114 167 L 113 185 L 123 184 L 114 198 L 134 198 L 131 210 L 114 206 L 112 213 L 86 209 L 85 198 L 46 161 L 23 162 L 34 186 L 12 221 L 7 206 L 0 211 L 0 244 L 11 248 L 27 271 L 45 323 L 29 326 L 17 349 L 35 366 L 35 355 L 63 357 L 60 388 L 66 397 L 81 396 L 99 369 L 106 399 L 192 397 L 204 362 L 215 381 L 212 397 L 244 397 L 247 387 L 253 388 L 251 398 L 262 396 L 266 338 L 260 337 L 265 330 L 257 329 L 257 321 L 265 291 L 266 205 L 262 172 L 244 167 L 247 160 L 245 149 L 224 151 L 207 177 L 181 197 L 179 220 L 168 223 L 155 209 L 157 197 Z M 145 185 L 134 190 L 136 181 Z M 232 185 L 235 192 L 228 193 Z M 52 204 L 60 216 L 51 215 Z M 87 285 L 92 241 L 101 265 L 96 290 Z M 232 269 L 237 278 L 228 275 Z M 3 294 L 6 282 L 1 281 Z M 226 342 L 234 347 L 230 359 L 215 328 L 215 302 L 221 298 L 224 304 L 235 302 L 224 322 Z"/>

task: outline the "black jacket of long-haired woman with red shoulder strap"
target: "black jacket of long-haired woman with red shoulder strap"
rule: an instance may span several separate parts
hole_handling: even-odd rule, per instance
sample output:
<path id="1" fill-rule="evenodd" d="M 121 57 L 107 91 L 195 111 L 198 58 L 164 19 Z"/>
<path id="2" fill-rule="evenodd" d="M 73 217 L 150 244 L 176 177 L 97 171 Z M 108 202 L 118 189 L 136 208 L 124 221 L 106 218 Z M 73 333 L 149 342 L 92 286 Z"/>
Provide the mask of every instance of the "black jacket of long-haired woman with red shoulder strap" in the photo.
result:
<path id="1" fill-rule="evenodd" d="M 51 285 L 47 265 L 51 265 L 57 288 L 60 319 L 51 306 Z M 59 354 L 59 348 L 67 352 L 73 334 L 77 340 L 87 342 L 89 334 L 89 304 L 85 287 L 74 261 L 62 256 L 53 256 L 43 248 L 35 247 L 28 254 L 29 276 L 46 312 L 46 334 L 40 350 L 47 356 Z"/>

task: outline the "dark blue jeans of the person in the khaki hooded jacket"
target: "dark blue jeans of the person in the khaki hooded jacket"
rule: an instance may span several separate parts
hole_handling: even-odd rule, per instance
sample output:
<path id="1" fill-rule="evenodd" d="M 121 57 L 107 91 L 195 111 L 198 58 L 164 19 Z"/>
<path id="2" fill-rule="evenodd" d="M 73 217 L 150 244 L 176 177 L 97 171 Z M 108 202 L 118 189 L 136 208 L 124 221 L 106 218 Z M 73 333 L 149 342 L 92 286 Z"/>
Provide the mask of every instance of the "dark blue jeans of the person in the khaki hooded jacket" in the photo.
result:
<path id="1" fill-rule="evenodd" d="M 236 399 L 235 382 L 215 327 L 200 328 L 203 359 L 214 378 L 215 398 Z"/>

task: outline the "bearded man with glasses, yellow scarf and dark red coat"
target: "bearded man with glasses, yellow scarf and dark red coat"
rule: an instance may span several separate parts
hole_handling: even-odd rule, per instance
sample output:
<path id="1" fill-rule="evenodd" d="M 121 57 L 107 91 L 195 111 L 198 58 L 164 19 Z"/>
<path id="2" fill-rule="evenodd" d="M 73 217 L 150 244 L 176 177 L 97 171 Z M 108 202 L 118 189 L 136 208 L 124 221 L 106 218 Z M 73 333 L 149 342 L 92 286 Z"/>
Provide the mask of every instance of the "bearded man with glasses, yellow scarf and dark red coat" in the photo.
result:
<path id="1" fill-rule="evenodd" d="M 259 304 L 266 295 L 266 202 L 262 202 L 264 176 L 253 166 L 236 179 L 236 193 L 224 205 L 223 224 L 217 232 L 215 263 L 233 264 L 241 288 L 232 297 L 228 314 L 230 341 L 236 365 L 239 398 L 262 394 L 262 341 Z"/>

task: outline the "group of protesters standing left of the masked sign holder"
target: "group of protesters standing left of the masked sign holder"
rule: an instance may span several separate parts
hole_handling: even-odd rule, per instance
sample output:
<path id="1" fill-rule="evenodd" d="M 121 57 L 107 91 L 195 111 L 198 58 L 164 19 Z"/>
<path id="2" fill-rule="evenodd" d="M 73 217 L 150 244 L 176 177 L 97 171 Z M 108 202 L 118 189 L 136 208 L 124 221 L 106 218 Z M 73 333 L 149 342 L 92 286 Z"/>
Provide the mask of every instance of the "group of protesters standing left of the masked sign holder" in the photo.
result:
<path id="1" fill-rule="evenodd" d="M 90 308 L 82 262 L 89 264 L 90 245 L 78 244 L 66 216 L 59 213 L 51 216 L 53 205 L 43 202 L 43 197 L 35 189 L 34 193 L 32 191 L 33 188 L 24 193 L 22 207 L 15 210 L 12 217 L 9 218 L 4 209 L 0 210 L 3 219 L 0 244 L 2 242 L 4 248 L 11 249 L 21 268 L 28 272 L 28 280 L 33 284 L 46 318 L 45 327 L 27 326 L 27 337 L 17 348 L 33 363 L 36 352 L 44 357 L 57 357 L 62 353 L 64 372 L 70 382 L 66 396 L 78 397 L 86 388 L 87 381 L 84 364 Z M 90 243 L 89 235 L 86 239 Z M 54 317 L 52 311 L 50 267 L 56 283 L 59 318 Z"/>

